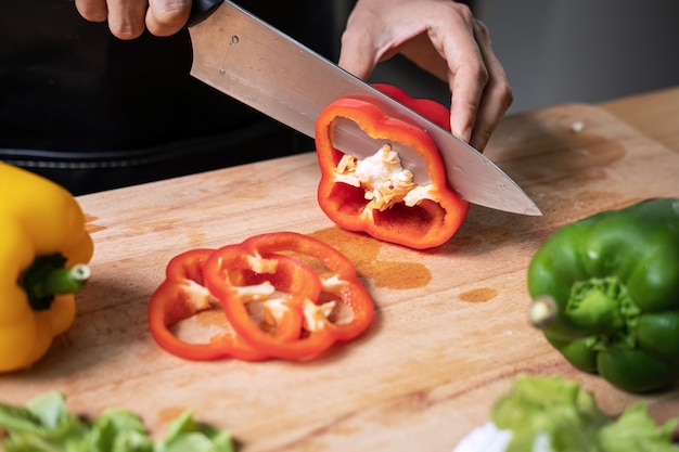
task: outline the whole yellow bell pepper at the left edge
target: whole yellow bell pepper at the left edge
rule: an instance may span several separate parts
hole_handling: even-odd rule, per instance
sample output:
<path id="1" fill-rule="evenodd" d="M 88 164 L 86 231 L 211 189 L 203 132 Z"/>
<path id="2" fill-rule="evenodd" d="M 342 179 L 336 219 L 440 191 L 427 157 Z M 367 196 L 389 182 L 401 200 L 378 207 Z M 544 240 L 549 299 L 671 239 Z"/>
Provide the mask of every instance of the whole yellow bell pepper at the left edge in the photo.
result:
<path id="1" fill-rule="evenodd" d="M 0 162 L 0 372 L 29 367 L 71 327 L 92 253 L 71 193 Z"/>

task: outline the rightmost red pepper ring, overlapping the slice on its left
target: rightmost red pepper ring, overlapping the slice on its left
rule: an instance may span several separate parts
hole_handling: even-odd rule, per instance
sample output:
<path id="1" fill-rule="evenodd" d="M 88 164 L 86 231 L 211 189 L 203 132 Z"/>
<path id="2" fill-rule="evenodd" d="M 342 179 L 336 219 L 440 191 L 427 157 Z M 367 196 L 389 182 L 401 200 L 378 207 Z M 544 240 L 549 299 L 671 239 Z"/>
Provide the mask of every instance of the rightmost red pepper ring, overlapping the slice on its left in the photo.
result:
<path id="1" fill-rule="evenodd" d="M 349 340 L 361 334 L 370 324 L 373 317 L 372 299 L 358 282 L 356 269 L 351 262 L 335 248 L 316 238 L 294 232 L 281 232 L 253 236 L 243 242 L 239 248 L 225 247 L 215 251 L 204 268 L 205 282 L 215 296 L 222 301 L 225 312 L 233 328 L 255 348 L 277 358 L 290 360 L 308 360 L 325 351 L 336 341 Z M 242 302 L 238 288 L 228 279 L 220 275 L 234 270 L 245 270 L 246 256 L 278 256 L 282 251 L 292 251 L 321 261 L 333 273 L 328 287 L 311 267 L 297 260 L 299 274 L 312 279 L 315 284 L 323 281 L 323 292 L 333 292 L 341 296 L 341 301 L 353 311 L 350 321 L 334 323 L 329 319 L 326 311 L 332 311 L 331 305 L 319 305 L 321 290 L 312 293 L 306 290 L 291 290 L 299 318 L 305 319 L 305 331 L 297 340 L 281 340 L 267 334 L 258 327 L 249 317 Z M 241 255 L 239 255 L 241 254 Z M 309 271 L 312 275 L 309 275 Z M 336 302 L 336 301 L 335 301 Z"/>

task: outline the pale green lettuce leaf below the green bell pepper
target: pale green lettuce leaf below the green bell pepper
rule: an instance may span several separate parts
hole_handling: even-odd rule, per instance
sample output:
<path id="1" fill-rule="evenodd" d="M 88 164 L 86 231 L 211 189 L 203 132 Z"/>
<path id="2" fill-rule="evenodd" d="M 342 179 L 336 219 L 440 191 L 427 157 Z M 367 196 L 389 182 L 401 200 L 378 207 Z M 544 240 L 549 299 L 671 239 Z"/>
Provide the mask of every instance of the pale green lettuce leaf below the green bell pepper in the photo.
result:
<path id="1" fill-rule="evenodd" d="M 610 418 L 591 392 L 559 375 L 518 375 L 491 418 L 497 428 L 512 431 L 505 452 L 530 451 L 540 435 L 554 452 L 679 452 L 672 445 L 679 419 L 658 426 L 642 403 Z"/>

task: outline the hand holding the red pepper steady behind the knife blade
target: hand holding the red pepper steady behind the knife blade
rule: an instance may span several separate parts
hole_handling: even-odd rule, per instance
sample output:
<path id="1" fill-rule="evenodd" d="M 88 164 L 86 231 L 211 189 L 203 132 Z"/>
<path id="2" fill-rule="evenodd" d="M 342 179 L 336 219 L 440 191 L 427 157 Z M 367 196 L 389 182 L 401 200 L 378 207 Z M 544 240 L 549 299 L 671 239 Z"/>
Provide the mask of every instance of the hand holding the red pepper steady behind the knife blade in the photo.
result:
<path id="1" fill-rule="evenodd" d="M 486 26 L 451 0 L 358 0 L 340 66 L 368 79 L 397 53 L 448 83 L 452 133 L 483 151 L 513 101 Z"/>

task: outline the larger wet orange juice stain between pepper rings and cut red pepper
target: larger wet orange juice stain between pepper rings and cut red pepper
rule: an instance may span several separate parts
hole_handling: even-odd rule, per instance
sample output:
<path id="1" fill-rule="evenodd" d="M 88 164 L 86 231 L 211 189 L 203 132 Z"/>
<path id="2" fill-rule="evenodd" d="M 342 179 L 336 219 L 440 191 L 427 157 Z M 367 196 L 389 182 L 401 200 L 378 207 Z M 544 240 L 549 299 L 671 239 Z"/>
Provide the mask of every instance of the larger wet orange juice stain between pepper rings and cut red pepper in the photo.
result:
<path id="1" fill-rule="evenodd" d="M 419 288 L 432 281 L 432 273 L 423 263 L 379 260 L 384 244 L 367 234 L 332 227 L 309 235 L 338 249 L 354 262 L 360 276 L 371 280 L 379 287 Z"/>

